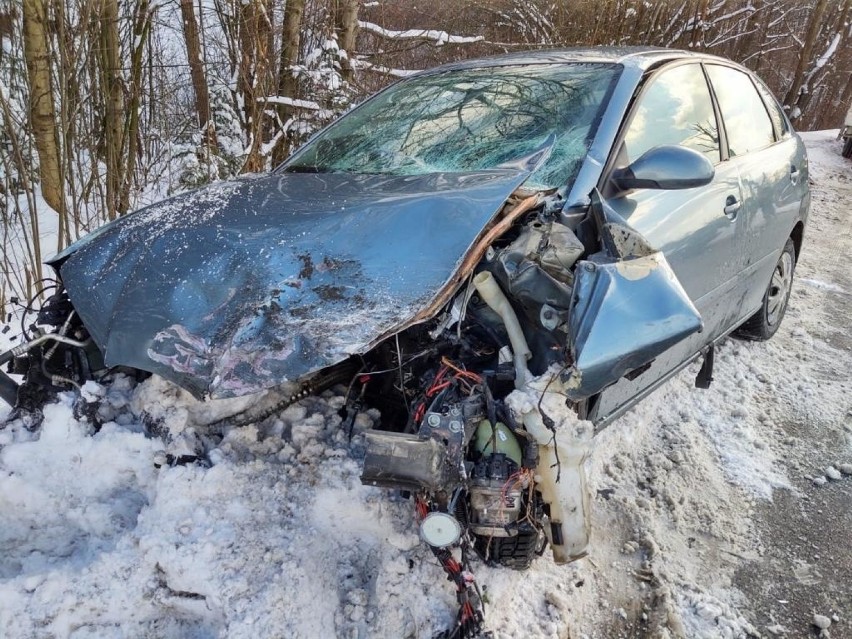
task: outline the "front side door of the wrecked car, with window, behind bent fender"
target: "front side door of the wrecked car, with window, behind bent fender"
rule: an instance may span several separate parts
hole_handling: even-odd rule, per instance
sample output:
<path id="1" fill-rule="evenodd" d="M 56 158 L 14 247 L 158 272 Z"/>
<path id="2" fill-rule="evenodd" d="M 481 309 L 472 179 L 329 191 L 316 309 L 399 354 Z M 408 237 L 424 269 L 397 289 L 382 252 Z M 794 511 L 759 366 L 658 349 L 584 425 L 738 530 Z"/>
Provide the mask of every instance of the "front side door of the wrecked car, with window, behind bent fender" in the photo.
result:
<path id="1" fill-rule="evenodd" d="M 604 193 L 612 209 L 664 253 L 700 312 L 704 328 L 660 355 L 641 374 L 606 388 L 590 409 L 589 417 L 597 422 L 650 392 L 692 358 L 724 330 L 730 314 L 730 294 L 739 270 L 736 238 L 743 192 L 737 167 L 723 161 L 717 114 L 699 63 L 664 68 L 646 82 L 628 116 L 613 169 L 662 144 L 704 153 L 715 165 L 713 181 L 676 191 L 617 193 L 610 187 Z"/>

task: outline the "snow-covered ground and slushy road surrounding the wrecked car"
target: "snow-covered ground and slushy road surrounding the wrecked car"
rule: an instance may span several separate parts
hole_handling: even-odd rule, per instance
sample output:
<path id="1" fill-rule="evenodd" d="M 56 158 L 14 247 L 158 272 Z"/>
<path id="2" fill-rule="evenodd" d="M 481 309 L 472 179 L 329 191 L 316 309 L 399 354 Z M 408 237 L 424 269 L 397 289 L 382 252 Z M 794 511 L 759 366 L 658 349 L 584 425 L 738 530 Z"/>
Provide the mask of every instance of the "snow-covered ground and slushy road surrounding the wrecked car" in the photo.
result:
<path id="1" fill-rule="evenodd" d="M 852 164 L 833 132 L 806 141 L 814 201 L 781 331 L 727 341 L 710 390 L 687 370 L 596 438 L 589 557 L 476 567 L 496 637 L 804 637 L 814 614 L 852 637 L 852 477 L 839 472 L 852 470 Z M 86 391 L 105 400 L 96 434 L 70 396 L 38 433 L 0 430 L 0 636 L 431 637 L 450 624 L 455 597 L 411 504 L 358 480 L 377 415 L 350 442 L 329 392 L 231 428 L 209 467 L 169 467 L 166 442 L 203 437 L 187 421 L 226 407 L 156 379 Z"/>

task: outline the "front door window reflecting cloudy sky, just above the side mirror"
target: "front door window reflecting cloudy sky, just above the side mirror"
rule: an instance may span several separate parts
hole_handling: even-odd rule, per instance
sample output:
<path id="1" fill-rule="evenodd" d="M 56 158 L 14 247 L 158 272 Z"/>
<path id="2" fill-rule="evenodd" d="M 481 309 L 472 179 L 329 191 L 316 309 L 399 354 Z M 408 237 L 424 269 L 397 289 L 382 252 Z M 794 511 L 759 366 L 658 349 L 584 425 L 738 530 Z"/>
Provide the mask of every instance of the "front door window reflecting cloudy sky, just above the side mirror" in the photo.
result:
<path id="1" fill-rule="evenodd" d="M 719 163 L 716 115 L 707 80 L 697 64 L 663 71 L 639 98 L 624 137 L 627 161 L 661 144 L 685 146 Z"/>

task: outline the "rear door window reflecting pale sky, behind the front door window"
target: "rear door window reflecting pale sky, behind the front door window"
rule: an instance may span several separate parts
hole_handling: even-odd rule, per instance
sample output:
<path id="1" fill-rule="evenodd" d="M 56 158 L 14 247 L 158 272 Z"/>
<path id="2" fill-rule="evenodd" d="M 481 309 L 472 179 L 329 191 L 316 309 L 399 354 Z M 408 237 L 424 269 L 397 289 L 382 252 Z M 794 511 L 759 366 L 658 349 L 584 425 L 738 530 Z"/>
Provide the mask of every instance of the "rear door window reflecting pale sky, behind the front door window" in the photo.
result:
<path id="1" fill-rule="evenodd" d="M 707 65 L 716 91 L 731 157 L 757 151 L 775 142 L 772 121 L 751 78 L 736 69 Z"/>

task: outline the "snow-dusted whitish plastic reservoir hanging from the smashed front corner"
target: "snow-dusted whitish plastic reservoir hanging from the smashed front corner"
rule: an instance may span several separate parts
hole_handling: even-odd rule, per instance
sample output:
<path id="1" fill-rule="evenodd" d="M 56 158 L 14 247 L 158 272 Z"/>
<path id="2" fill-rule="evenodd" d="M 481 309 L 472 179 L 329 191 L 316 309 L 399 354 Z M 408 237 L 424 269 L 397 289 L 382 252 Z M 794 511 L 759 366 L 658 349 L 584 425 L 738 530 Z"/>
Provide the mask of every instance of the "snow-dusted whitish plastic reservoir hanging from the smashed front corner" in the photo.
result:
<path id="1" fill-rule="evenodd" d="M 546 532 L 553 560 L 564 564 L 584 557 L 589 545 L 591 512 L 584 464 L 592 425 L 578 419 L 565 405 L 565 389 L 559 378 L 554 378 L 556 374 L 551 369 L 528 381 L 511 393 L 506 403 L 539 444 L 536 488 L 550 506 L 551 525 Z M 553 420 L 554 430 L 545 425 L 542 411 Z"/>

